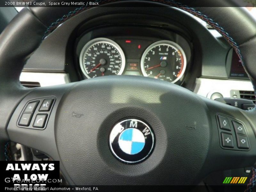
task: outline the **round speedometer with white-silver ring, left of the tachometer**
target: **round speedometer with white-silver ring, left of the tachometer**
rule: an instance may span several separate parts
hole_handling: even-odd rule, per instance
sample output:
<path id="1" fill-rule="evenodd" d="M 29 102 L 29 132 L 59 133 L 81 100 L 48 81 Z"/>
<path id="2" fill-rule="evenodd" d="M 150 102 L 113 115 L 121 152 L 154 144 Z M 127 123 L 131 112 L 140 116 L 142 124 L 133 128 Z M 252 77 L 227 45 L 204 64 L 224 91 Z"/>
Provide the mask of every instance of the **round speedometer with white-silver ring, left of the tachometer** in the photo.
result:
<path id="1" fill-rule="evenodd" d="M 80 54 L 80 67 L 87 78 L 121 75 L 124 66 L 124 52 L 111 39 L 92 39 L 84 45 Z"/>

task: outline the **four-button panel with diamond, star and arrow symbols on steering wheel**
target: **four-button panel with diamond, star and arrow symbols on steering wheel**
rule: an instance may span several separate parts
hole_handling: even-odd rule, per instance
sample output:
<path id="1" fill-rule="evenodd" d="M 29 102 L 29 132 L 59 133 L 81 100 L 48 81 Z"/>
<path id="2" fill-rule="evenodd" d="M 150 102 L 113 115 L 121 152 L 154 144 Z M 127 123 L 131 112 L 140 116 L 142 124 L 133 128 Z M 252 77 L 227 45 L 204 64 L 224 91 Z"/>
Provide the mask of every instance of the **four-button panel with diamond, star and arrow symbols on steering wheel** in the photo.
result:
<path id="1" fill-rule="evenodd" d="M 218 114 L 216 118 L 221 148 L 242 151 L 250 149 L 248 134 L 242 122 L 223 114 Z"/>

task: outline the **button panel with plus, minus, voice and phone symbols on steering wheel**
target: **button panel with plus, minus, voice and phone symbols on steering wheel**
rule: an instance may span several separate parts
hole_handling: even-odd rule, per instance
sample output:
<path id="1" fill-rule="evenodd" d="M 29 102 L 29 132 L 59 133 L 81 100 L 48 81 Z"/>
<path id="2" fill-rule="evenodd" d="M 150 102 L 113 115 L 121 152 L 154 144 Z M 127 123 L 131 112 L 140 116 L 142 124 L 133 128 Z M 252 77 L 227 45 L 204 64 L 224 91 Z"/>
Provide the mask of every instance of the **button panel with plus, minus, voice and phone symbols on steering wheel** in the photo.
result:
<path id="1" fill-rule="evenodd" d="M 54 101 L 54 97 L 28 101 L 20 113 L 17 125 L 23 128 L 45 129 Z"/>

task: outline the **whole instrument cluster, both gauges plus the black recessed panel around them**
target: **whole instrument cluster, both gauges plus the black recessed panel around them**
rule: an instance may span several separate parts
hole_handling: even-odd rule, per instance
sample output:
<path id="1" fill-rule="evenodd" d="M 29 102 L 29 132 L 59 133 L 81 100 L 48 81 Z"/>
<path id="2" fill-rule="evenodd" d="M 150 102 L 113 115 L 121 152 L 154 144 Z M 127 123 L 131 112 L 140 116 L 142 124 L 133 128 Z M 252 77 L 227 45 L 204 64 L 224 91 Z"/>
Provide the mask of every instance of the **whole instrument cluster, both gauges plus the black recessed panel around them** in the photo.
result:
<path id="1" fill-rule="evenodd" d="M 102 36 L 102 31 L 116 35 Z M 129 36 L 125 35 L 127 31 Z M 175 32 L 166 30 L 168 36 L 161 36 L 163 32 L 157 28 L 134 26 L 92 30 L 77 41 L 79 71 L 84 79 L 135 75 L 181 84 L 190 65 L 190 45 Z"/>

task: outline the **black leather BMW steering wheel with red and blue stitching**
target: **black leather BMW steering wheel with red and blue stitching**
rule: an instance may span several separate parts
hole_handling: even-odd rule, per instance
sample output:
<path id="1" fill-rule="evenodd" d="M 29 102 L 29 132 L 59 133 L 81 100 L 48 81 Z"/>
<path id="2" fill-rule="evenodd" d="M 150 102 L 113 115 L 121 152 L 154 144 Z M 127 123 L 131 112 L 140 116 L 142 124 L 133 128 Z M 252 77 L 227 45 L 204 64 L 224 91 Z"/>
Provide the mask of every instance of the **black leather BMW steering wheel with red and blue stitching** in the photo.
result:
<path id="1" fill-rule="evenodd" d="M 102 1 L 101 5 L 122 5 L 113 2 Z M 244 8 L 222 0 L 209 1 L 212 7 L 193 1 L 195 8 L 181 1 L 151 3 L 174 6 L 172 9 L 185 10 L 212 25 L 234 48 L 255 86 L 256 21 Z M 89 10 L 96 9 L 89 8 L 26 7 L 2 32 L 2 147 L 12 140 L 42 151 L 60 161 L 60 169 L 73 185 L 196 184 L 211 172 L 255 163 L 255 109 L 244 111 L 181 86 L 140 76 L 103 76 L 33 89 L 21 86 L 22 68 L 42 38 L 80 12 L 88 12 L 89 18 Z M 136 120 L 121 123 L 127 119 L 142 122 L 145 140 L 140 139 L 152 149 L 137 162 L 127 160 L 131 153 L 126 157 L 118 154 L 118 147 L 112 149 L 115 143 L 111 146 L 109 141 L 116 125 L 127 130 L 124 126 L 132 124 L 139 129 Z M 150 135 L 146 133 L 154 137 L 153 144 L 147 143 Z M 122 139 L 120 132 L 117 135 Z"/>

